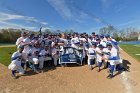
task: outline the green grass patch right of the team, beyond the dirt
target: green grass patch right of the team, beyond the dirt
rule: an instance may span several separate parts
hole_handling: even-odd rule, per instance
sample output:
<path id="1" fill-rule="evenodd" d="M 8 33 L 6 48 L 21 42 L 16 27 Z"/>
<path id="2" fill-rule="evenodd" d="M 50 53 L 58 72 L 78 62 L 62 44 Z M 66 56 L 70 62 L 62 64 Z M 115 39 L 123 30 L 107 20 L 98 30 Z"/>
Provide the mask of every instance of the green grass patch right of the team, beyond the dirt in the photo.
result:
<path id="1" fill-rule="evenodd" d="M 126 53 L 128 53 L 130 56 L 132 56 L 133 58 L 135 58 L 136 60 L 140 62 L 140 55 L 136 55 L 136 54 L 140 54 L 140 45 L 139 47 L 135 45 L 129 45 L 129 44 L 120 44 L 119 46 Z"/>

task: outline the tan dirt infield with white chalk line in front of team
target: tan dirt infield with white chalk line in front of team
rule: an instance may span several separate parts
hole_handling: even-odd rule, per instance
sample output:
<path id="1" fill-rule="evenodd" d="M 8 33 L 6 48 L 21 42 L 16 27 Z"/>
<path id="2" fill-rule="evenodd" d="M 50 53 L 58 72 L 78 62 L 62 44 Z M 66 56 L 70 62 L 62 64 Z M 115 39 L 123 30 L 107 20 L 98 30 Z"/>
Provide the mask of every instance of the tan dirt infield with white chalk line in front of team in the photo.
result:
<path id="1" fill-rule="evenodd" d="M 130 72 L 107 79 L 106 70 L 90 71 L 86 66 L 57 67 L 43 73 L 30 71 L 14 80 L 7 67 L 0 65 L 0 93 L 140 93 L 140 63 L 121 50 Z"/>

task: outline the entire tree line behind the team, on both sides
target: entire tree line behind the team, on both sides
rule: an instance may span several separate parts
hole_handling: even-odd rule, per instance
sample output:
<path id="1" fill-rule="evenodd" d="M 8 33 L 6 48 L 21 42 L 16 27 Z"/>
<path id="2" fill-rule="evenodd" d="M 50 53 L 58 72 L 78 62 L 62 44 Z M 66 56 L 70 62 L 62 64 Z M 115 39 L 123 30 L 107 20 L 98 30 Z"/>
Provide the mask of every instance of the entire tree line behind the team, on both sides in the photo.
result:
<path id="1" fill-rule="evenodd" d="M 23 31 L 28 32 L 29 30 L 12 29 L 12 28 L 0 29 L 0 43 L 15 43 L 17 38 L 20 37 L 20 33 Z M 52 31 L 50 29 L 46 29 L 45 31 L 43 31 L 43 33 L 48 33 L 48 34 L 62 33 L 62 32 L 65 34 L 69 34 L 69 33 L 74 33 L 75 31 L 73 30 Z M 96 32 L 96 31 L 93 31 L 93 32 Z M 36 31 L 34 33 L 39 33 L 39 31 Z M 98 33 L 103 34 L 103 35 L 109 34 L 110 36 L 113 36 L 113 38 L 115 38 L 117 41 L 137 41 L 140 31 L 133 27 L 118 30 L 115 27 L 110 25 L 110 26 L 100 28 L 98 30 Z"/>

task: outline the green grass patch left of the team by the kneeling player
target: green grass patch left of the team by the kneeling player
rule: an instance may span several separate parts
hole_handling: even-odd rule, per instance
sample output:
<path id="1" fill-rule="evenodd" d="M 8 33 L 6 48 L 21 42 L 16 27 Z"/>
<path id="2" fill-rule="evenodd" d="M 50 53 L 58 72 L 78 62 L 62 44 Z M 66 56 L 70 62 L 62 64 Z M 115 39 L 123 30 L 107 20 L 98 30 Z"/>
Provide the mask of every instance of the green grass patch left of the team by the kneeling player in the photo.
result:
<path id="1" fill-rule="evenodd" d="M 8 66 L 11 63 L 11 53 L 15 51 L 16 47 L 0 47 L 0 63 Z"/>

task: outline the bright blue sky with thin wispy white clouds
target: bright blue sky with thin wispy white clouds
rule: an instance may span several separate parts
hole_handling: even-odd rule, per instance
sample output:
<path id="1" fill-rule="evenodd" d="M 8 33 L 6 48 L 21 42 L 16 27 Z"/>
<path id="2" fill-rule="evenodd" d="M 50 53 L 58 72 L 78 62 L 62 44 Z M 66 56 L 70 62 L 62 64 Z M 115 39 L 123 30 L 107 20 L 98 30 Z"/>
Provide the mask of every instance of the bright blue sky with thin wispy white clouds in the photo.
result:
<path id="1" fill-rule="evenodd" d="M 140 0 L 0 0 L 0 28 L 98 31 L 140 28 Z"/>

